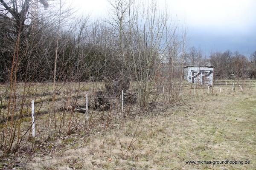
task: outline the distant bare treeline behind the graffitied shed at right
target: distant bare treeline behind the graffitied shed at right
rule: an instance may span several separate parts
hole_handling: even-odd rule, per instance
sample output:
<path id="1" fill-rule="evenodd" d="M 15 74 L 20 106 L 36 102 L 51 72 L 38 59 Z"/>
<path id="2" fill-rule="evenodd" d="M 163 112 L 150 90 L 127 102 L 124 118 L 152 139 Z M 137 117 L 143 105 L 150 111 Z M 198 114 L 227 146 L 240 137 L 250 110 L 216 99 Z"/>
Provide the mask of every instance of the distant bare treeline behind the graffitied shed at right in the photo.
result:
<path id="1" fill-rule="evenodd" d="M 212 52 L 209 56 L 202 56 L 200 48 L 188 49 L 184 60 L 185 65 L 213 65 L 215 79 L 256 78 L 256 51 L 246 57 L 239 51 L 227 50 L 223 53 Z"/>

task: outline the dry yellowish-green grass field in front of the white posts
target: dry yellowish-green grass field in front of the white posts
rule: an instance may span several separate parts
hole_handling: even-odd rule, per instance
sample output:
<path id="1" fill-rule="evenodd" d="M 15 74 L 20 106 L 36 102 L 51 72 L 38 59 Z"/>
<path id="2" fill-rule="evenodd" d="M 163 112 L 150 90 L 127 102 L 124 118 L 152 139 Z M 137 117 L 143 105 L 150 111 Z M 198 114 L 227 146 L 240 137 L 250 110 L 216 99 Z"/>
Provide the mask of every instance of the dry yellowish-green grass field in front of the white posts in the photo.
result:
<path id="1" fill-rule="evenodd" d="M 194 91 L 187 85 L 177 103 L 159 105 L 148 114 L 122 119 L 108 129 L 97 125 L 90 133 L 61 134 L 52 142 L 30 139 L 27 155 L 22 151 L 17 153 L 13 167 L 17 170 L 254 170 L 256 88 L 253 83 L 251 87 L 242 86 L 243 91 L 236 87 L 235 92 L 231 85 L 214 86 L 213 95 L 211 89 L 209 93 L 207 88 Z M 82 117 L 81 114 L 79 119 Z M 5 159 L 0 167 L 12 163 L 11 160 Z M 240 162 L 213 162 L 225 160 Z M 250 164 L 245 164 L 247 160 Z M 211 161 L 211 164 L 186 161 Z"/>

